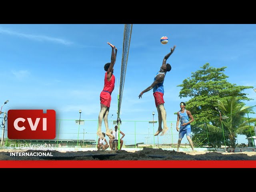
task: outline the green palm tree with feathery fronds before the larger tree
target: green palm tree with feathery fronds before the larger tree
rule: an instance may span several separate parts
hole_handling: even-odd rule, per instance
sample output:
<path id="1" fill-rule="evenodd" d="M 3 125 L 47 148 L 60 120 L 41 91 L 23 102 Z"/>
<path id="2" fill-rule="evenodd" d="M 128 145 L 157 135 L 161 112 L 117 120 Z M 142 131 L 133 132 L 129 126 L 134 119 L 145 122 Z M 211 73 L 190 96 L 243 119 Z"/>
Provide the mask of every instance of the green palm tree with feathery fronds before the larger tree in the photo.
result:
<path id="1" fill-rule="evenodd" d="M 252 113 L 252 108 L 242 105 L 237 97 L 225 99 L 224 101 L 218 100 L 216 106 L 222 112 L 222 116 L 224 115 L 228 118 L 221 120 L 220 117 L 213 116 L 210 124 L 207 124 L 207 128 L 210 132 L 222 132 L 223 125 L 224 133 L 228 134 L 228 139 L 230 140 L 228 145 L 235 148 L 237 134 L 242 134 L 244 130 L 250 128 L 249 122 L 256 122 L 256 118 L 246 118 L 247 113 Z M 205 125 L 202 125 L 203 127 Z"/>

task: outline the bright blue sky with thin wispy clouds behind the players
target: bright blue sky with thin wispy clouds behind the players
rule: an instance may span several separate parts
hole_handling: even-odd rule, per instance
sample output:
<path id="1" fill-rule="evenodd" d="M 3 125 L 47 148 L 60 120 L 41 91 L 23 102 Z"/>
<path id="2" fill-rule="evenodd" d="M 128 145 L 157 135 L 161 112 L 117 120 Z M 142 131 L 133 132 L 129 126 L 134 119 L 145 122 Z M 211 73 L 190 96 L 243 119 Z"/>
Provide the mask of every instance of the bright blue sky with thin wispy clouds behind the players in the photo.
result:
<path id="1" fill-rule="evenodd" d="M 82 110 L 81 119 L 98 119 L 99 96 L 104 86 L 103 67 L 110 62 L 111 55 L 107 42 L 118 48 L 114 75 L 119 85 L 123 33 L 124 24 L 1 24 L 0 103 L 10 100 L 2 111 L 54 109 L 57 119 L 70 120 L 62 121 L 59 138 L 83 139 L 86 132 L 85 139 L 96 139 L 96 121 L 80 126 L 78 136 L 78 126 L 71 120 L 79 119 L 79 110 Z M 151 143 L 154 140 L 152 125 L 146 122 L 152 120 L 153 111 L 157 118 L 152 90 L 143 94 L 142 99 L 138 99 L 138 95 L 152 84 L 171 47 L 176 45 L 167 60 L 172 70 L 164 81 L 164 106 L 167 121 L 176 124 L 174 112 L 180 109 L 181 101 L 188 100 L 178 97 L 180 87 L 177 85 L 207 62 L 216 68 L 226 66 L 224 73 L 229 76 L 228 82 L 256 87 L 255 34 L 255 24 L 134 24 L 120 117 L 123 121 L 145 122 L 136 126 L 134 122 L 123 123 L 121 130 L 127 134 L 126 144 L 134 143 L 135 128 L 136 142 L 146 142 L 148 137 Z M 168 44 L 160 43 L 162 36 L 169 38 Z M 252 89 L 246 93 L 249 98 L 256 98 Z M 116 120 L 117 94 L 116 80 L 110 121 Z M 256 105 L 256 100 L 246 104 Z M 111 123 L 109 126 L 111 128 Z M 157 125 L 154 131 L 156 129 Z M 105 130 L 104 123 L 102 130 Z M 176 130 L 175 134 L 178 134 Z M 172 138 L 174 142 L 176 136 Z M 238 142 L 246 142 L 244 138 L 239 137 Z M 158 139 L 169 140 L 167 136 Z M 182 142 L 187 142 L 186 138 Z"/>

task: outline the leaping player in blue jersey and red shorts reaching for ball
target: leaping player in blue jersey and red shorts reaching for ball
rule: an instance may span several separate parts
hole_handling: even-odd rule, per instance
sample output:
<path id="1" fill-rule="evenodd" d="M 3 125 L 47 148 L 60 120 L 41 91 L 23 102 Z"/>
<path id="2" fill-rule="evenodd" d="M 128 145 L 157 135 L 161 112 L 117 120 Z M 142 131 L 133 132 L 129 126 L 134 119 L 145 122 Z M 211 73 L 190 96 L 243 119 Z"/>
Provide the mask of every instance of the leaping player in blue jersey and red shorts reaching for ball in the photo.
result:
<path id="1" fill-rule="evenodd" d="M 164 108 L 164 98 L 163 98 L 163 96 L 164 96 L 164 78 L 165 78 L 166 73 L 172 69 L 170 64 L 166 64 L 166 60 L 174 52 L 175 48 L 176 48 L 176 45 L 174 45 L 173 48 L 171 48 L 171 52 L 168 53 L 164 57 L 162 66 L 160 67 L 160 71 L 157 72 L 152 85 L 150 85 L 148 88 L 143 90 L 139 95 L 139 98 L 142 98 L 142 95 L 145 92 L 148 92 L 149 90 L 153 89 L 153 95 L 155 98 L 156 109 L 158 112 L 158 123 L 159 123 L 158 130 L 156 131 L 154 136 L 157 136 L 158 134 L 160 134 L 160 132 L 162 132 L 162 134 L 161 134 L 161 136 L 162 136 L 168 130 L 168 127 L 166 124 L 166 111 Z M 163 129 L 162 129 L 162 122 L 164 124 Z"/>

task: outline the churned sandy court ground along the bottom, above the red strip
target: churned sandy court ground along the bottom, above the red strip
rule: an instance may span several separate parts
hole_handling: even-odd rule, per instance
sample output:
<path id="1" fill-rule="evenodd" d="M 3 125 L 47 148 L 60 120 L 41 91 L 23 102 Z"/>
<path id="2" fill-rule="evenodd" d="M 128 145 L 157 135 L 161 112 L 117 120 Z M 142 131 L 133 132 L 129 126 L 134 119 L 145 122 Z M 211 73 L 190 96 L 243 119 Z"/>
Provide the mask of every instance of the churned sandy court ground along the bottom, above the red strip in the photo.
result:
<path id="1" fill-rule="evenodd" d="M 52 156 L 10 156 L 10 152 L 49 152 Z M 256 152 L 176 152 L 143 148 L 140 151 L 0 150 L 0 160 L 256 160 Z"/>

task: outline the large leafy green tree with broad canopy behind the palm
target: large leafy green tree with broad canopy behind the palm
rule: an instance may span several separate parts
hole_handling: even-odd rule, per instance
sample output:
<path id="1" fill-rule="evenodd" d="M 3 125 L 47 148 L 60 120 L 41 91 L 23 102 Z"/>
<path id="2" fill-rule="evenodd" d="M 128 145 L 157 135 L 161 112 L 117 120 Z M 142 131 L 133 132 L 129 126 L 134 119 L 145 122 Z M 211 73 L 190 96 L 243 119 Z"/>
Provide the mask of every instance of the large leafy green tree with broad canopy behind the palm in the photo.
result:
<path id="1" fill-rule="evenodd" d="M 186 108 L 190 110 L 196 122 L 211 122 L 215 125 L 213 117 L 219 116 L 217 102 L 232 99 L 233 96 L 241 106 L 244 102 L 252 100 L 248 98 L 244 90 L 253 88 L 252 86 L 237 86 L 227 81 L 228 76 L 224 74 L 226 67 L 214 68 L 209 63 L 201 67 L 202 70 L 192 72 L 192 76 L 183 80 L 180 90 L 180 98 L 190 98 L 186 102 Z M 202 124 L 202 123 L 201 123 Z M 194 133 L 193 142 L 195 146 L 210 144 L 210 146 L 219 146 L 220 140 L 223 140 L 223 134 L 212 133 L 210 130 L 192 124 Z M 228 143 L 228 132 L 225 132 L 225 139 Z M 208 135 L 208 137 L 207 137 Z"/>

